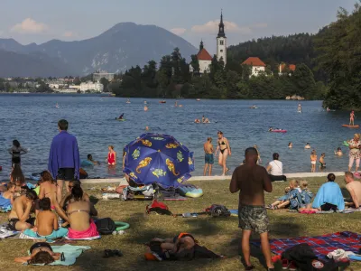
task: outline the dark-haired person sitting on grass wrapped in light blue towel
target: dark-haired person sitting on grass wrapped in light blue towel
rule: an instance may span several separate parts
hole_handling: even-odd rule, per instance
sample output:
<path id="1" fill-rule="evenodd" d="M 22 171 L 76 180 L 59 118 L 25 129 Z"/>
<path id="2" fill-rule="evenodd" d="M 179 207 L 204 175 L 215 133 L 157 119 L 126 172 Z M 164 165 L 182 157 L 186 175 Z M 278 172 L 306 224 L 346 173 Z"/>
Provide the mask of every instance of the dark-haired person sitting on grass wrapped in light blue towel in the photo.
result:
<path id="1" fill-rule="evenodd" d="M 328 182 L 322 184 L 317 192 L 312 205 L 301 208 L 300 211 L 329 211 L 329 210 L 345 210 L 345 201 L 338 183 L 335 182 L 334 173 L 329 173 Z"/>

